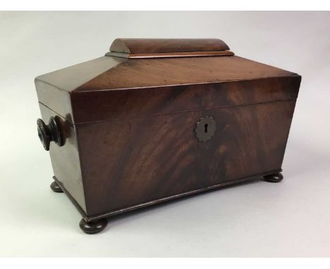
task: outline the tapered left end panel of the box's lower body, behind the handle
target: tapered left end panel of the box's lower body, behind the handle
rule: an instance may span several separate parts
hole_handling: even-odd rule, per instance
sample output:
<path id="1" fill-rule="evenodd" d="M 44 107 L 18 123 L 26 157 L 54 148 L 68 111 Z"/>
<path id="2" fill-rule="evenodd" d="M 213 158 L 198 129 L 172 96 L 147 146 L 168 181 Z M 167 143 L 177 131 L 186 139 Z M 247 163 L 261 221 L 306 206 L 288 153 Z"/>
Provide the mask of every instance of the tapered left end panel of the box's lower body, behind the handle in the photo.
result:
<path id="1" fill-rule="evenodd" d="M 51 116 L 54 117 L 57 115 L 60 118 L 64 145 L 57 146 L 54 142 L 51 142 L 49 148 L 54 176 L 72 196 L 82 211 L 86 212 L 75 126 L 66 120 L 66 118 L 51 111 L 47 106 L 39 103 L 39 107 L 44 123 L 47 124 Z"/>

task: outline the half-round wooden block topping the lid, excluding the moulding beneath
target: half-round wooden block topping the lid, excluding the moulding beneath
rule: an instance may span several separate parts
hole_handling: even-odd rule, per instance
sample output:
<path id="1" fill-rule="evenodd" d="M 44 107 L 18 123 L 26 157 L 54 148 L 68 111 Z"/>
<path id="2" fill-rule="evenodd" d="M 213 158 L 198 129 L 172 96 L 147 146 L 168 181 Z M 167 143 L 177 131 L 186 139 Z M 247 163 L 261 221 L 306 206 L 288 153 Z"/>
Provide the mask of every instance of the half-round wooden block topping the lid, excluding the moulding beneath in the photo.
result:
<path id="1" fill-rule="evenodd" d="M 229 47 L 221 39 L 144 39 L 118 38 L 110 51 L 126 54 L 154 54 L 187 51 L 226 51 Z"/>

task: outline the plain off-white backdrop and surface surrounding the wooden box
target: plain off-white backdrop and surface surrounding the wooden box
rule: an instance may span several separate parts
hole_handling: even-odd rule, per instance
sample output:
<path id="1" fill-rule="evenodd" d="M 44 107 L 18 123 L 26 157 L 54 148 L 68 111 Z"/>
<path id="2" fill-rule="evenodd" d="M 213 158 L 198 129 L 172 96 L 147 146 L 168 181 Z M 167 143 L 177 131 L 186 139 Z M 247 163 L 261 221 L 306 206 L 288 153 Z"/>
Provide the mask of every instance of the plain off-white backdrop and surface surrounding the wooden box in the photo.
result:
<path id="1" fill-rule="evenodd" d="M 329 32 L 329 12 L 0 12 L 0 256 L 330 256 Z M 238 56 L 302 75 L 283 182 L 82 233 L 78 211 L 49 189 L 34 78 L 102 56 L 116 37 L 221 38 Z"/>

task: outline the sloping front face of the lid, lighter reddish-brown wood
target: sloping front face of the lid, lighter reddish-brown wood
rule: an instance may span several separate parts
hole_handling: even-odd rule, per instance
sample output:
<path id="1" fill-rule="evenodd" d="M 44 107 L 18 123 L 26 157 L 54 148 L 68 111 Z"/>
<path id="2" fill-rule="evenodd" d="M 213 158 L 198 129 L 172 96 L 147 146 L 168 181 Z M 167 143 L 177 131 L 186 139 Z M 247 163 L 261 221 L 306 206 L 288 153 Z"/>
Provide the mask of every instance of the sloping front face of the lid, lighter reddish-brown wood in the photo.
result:
<path id="1" fill-rule="evenodd" d="M 298 76 L 239 56 L 118 59 L 122 62 L 76 87 L 71 94 Z"/>

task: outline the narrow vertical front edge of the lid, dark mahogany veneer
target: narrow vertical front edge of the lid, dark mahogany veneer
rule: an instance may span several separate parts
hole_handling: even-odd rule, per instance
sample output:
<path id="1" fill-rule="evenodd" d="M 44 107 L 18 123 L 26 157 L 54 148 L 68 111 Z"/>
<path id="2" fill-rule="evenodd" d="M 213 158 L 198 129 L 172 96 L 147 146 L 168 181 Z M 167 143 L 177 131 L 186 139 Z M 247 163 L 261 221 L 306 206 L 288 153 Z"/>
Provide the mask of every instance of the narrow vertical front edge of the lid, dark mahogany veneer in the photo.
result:
<path id="1" fill-rule="evenodd" d="M 262 80 L 153 87 L 94 92 L 72 92 L 75 123 L 161 115 L 294 100 L 300 76 Z"/>

